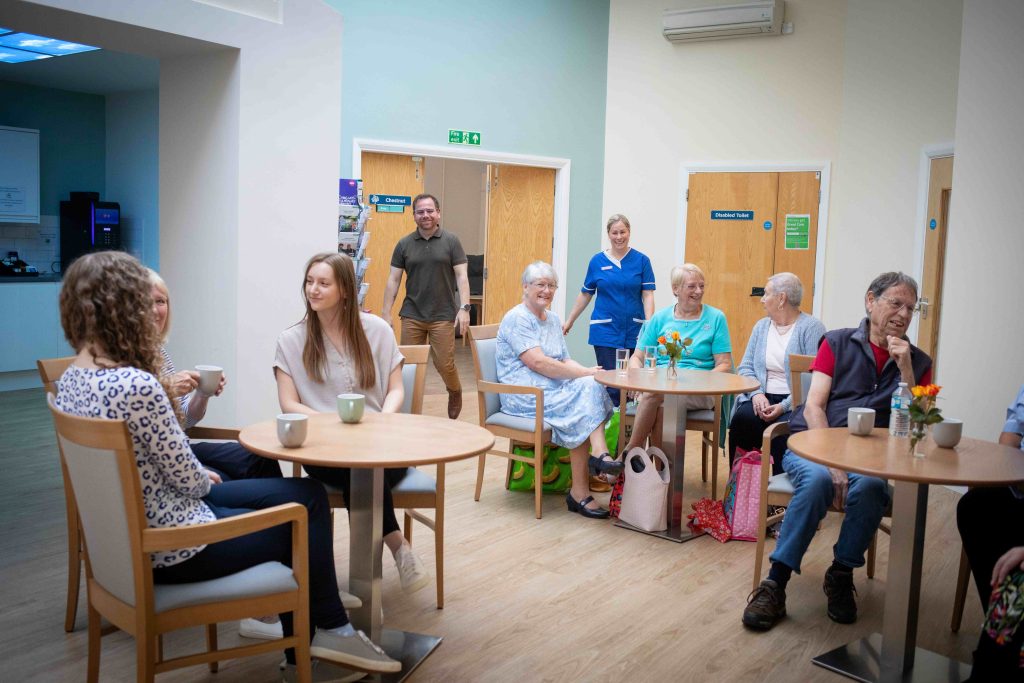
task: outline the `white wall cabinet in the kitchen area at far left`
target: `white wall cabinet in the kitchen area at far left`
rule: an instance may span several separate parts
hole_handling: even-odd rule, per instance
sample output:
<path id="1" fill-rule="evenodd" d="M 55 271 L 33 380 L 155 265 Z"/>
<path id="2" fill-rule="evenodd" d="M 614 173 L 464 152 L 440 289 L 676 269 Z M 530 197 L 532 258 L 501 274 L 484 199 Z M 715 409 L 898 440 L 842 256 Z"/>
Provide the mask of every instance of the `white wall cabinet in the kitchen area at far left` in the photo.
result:
<path id="1" fill-rule="evenodd" d="M 39 222 L 39 131 L 0 126 L 0 223 Z"/>

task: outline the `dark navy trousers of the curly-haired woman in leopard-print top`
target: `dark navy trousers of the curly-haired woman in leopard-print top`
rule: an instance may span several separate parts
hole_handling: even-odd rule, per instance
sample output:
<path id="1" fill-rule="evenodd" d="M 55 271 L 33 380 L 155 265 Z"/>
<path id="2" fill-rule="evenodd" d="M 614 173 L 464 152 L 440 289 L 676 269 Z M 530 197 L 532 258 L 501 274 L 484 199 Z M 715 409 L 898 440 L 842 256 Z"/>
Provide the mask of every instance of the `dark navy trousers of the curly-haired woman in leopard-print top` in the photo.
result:
<path id="1" fill-rule="evenodd" d="M 331 507 L 319 481 L 297 477 L 225 481 L 210 487 L 203 499 L 218 519 L 283 503 L 299 503 L 308 513 L 309 622 L 310 635 L 316 627 L 335 629 L 348 624 L 348 614 L 338 596 L 334 569 L 334 539 L 331 536 Z M 292 565 L 292 527 L 280 524 L 262 531 L 211 543 L 184 562 L 153 570 L 157 584 L 190 584 L 219 579 L 263 562 Z M 286 636 L 292 635 L 292 614 L 281 615 Z M 295 652 L 286 652 L 295 663 Z"/>

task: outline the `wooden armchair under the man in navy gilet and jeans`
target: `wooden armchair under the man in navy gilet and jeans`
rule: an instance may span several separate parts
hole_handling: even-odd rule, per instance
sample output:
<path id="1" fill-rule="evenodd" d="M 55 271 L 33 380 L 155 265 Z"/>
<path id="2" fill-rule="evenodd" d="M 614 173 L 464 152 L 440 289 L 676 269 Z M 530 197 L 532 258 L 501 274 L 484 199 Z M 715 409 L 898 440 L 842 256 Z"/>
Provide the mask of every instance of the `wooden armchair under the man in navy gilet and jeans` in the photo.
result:
<path id="1" fill-rule="evenodd" d="M 793 407 L 801 405 L 807 396 L 807 391 L 811 386 L 811 364 L 814 362 L 813 355 L 790 355 L 790 387 L 793 396 Z M 772 507 L 784 507 L 790 504 L 793 498 L 794 487 L 790 481 L 790 476 L 784 472 L 781 474 L 771 474 L 771 442 L 776 436 L 784 436 L 790 433 L 788 422 L 776 422 L 765 429 L 761 443 L 761 453 L 765 454 L 761 466 L 761 515 L 758 520 L 758 543 L 754 555 L 754 588 L 757 589 L 761 583 L 761 566 L 764 562 L 765 536 L 768 532 L 768 525 L 782 519 L 785 511 L 776 512 L 769 515 L 768 510 Z M 842 512 L 835 508 L 829 508 L 829 512 Z M 891 515 L 890 511 L 886 515 Z M 886 522 L 879 524 L 879 529 L 890 532 L 890 525 Z M 878 533 L 871 537 L 871 545 L 867 547 L 867 578 L 874 578 L 874 556 L 878 544 Z"/>

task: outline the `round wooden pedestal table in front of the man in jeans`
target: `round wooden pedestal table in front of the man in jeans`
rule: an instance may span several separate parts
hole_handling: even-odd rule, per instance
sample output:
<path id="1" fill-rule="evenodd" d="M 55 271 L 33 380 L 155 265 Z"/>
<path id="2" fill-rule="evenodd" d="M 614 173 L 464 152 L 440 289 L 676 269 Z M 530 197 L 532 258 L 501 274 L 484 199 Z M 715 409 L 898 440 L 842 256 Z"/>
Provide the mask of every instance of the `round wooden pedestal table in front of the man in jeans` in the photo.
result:
<path id="1" fill-rule="evenodd" d="M 931 436 L 909 454 L 910 441 L 877 428 L 855 436 L 846 427 L 790 436 L 788 449 L 811 462 L 895 481 L 889 573 L 882 634 L 871 634 L 814 657 L 814 664 L 859 681 L 962 681 L 971 668 L 916 647 L 928 485 L 995 486 L 1024 481 L 1024 453 L 963 438 L 941 449 Z"/>

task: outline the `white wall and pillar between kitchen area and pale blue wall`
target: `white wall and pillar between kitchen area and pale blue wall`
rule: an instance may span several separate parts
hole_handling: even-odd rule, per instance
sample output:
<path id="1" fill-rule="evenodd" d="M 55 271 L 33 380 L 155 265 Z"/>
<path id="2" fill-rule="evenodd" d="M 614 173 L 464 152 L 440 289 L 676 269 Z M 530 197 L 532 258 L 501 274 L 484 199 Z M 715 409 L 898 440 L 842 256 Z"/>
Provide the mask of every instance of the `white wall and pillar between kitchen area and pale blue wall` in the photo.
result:
<path id="1" fill-rule="evenodd" d="M 337 249 L 341 17 L 290 0 L 284 23 L 190 0 L 13 3 L 18 26 L 161 60 L 160 256 L 179 367 L 216 362 L 208 422 L 278 412 L 274 340 L 302 315 L 302 266 Z"/>

